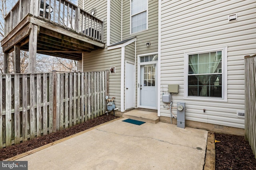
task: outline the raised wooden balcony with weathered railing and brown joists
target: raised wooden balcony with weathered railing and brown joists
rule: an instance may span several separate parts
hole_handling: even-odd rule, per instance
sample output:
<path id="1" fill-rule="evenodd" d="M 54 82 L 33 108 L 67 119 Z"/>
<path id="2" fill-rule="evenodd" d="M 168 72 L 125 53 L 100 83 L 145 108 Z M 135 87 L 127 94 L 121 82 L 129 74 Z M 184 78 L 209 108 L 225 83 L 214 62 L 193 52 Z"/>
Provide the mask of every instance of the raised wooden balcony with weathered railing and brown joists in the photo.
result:
<path id="1" fill-rule="evenodd" d="M 33 72 L 36 53 L 80 60 L 83 52 L 104 48 L 103 32 L 103 21 L 67 0 L 19 0 L 5 17 L 1 46 L 5 58 L 29 51 Z"/>

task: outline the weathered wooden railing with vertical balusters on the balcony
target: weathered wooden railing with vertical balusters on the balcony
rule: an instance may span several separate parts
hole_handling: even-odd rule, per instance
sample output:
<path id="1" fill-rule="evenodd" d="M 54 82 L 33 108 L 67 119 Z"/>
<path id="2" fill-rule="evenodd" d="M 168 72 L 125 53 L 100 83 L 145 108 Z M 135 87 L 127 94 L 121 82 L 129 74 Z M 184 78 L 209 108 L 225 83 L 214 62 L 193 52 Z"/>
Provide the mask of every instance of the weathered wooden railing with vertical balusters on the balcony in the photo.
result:
<path id="1" fill-rule="evenodd" d="M 67 0 L 19 0 L 5 17 L 5 36 L 27 15 L 103 42 L 103 21 Z"/>

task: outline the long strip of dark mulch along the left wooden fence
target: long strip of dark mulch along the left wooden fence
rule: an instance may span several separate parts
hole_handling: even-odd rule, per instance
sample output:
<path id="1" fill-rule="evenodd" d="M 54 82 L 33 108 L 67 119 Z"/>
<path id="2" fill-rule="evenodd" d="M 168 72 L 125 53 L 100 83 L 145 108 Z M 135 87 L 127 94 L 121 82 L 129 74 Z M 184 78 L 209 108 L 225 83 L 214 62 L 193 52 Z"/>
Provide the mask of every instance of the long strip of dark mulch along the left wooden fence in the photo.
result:
<path id="1" fill-rule="evenodd" d="M 108 122 L 108 121 L 116 119 L 116 118 L 118 118 L 118 116 L 114 116 L 111 114 L 102 115 L 100 117 L 91 119 L 91 120 L 81 123 L 79 125 L 70 127 L 68 129 L 64 129 L 62 131 L 58 131 L 58 132 L 52 133 L 50 135 L 41 136 L 41 137 L 32 139 L 30 141 L 26 141 L 24 143 L 20 143 L 19 145 L 12 145 L 10 147 L 0 149 L 0 160 L 5 160 L 5 159 L 11 158 L 13 156 L 16 156 L 18 154 L 27 152 L 29 150 L 41 147 L 48 143 L 58 141 L 59 139 L 68 137 L 70 135 L 74 135 L 75 133 L 84 131 L 86 129 L 100 125 L 102 123 Z"/>

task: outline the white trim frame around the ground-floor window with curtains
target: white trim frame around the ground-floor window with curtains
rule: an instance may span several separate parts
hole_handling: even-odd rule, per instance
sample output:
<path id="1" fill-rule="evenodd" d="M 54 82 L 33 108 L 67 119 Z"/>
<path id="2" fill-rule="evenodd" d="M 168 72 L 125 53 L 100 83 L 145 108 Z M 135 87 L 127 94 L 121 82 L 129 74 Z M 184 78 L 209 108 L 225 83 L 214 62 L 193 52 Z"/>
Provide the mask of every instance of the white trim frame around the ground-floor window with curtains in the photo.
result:
<path id="1" fill-rule="evenodd" d="M 222 51 L 222 98 L 188 96 L 188 55 L 198 54 L 198 53 L 208 53 L 211 51 Z M 227 102 L 228 101 L 227 100 L 227 96 L 228 96 L 227 58 L 228 58 L 228 47 L 185 52 L 184 53 L 184 100 Z"/>

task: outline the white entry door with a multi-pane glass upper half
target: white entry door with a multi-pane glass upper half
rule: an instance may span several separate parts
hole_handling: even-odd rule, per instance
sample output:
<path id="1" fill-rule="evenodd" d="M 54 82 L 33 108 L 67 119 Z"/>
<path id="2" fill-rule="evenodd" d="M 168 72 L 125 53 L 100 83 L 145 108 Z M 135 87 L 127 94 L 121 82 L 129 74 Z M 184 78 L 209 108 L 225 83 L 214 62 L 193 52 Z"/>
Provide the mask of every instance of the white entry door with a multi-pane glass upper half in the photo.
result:
<path id="1" fill-rule="evenodd" d="M 140 65 L 140 107 L 157 107 L 156 66 L 156 63 Z"/>

